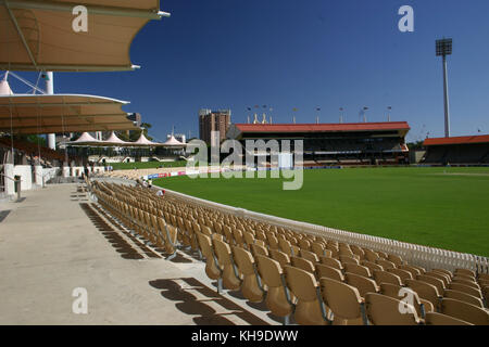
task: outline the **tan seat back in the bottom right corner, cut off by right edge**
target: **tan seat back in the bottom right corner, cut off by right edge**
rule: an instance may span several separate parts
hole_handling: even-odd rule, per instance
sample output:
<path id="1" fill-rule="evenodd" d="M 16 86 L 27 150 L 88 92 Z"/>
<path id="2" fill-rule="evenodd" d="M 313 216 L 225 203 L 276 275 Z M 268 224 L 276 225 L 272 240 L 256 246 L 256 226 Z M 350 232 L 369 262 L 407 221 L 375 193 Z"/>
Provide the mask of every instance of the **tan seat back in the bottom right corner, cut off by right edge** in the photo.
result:
<path id="1" fill-rule="evenodd" d="M 442 298 L 440 313 L 457 318 L 475 325 L 489 325 L 489 312 L 472 304 Z"/>

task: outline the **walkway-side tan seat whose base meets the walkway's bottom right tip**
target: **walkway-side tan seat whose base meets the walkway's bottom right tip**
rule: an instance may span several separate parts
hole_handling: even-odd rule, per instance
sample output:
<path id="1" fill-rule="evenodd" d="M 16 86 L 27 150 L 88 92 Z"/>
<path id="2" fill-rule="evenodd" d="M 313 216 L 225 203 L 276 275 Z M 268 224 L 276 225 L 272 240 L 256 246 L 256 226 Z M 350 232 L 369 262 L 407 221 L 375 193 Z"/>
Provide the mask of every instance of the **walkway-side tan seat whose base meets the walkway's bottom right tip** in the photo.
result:
<path id="1" fill-rule="evenodd" d="M 284 322 L 289 322 L 289 316 L 293 311 L 293 297 L 289 294 L 285 283 L 284 272 L 280 264 L 272 258 L 256 256 L 258 271 L 263 283 L 266 285 L 265 304 L 269 311 L 284 317 Z"/>

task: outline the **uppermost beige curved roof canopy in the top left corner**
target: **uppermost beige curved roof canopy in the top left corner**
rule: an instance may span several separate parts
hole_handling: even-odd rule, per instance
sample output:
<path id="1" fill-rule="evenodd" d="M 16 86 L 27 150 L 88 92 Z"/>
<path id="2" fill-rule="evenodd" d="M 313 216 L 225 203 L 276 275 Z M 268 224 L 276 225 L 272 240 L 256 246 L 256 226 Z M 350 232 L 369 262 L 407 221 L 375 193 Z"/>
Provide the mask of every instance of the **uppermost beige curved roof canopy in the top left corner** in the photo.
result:
<path id="1" fill-rule="evenodd" d="M 162 16 L 160 0 L 0 0 L 0 69 L 130 70 L 134 38 Z"/>

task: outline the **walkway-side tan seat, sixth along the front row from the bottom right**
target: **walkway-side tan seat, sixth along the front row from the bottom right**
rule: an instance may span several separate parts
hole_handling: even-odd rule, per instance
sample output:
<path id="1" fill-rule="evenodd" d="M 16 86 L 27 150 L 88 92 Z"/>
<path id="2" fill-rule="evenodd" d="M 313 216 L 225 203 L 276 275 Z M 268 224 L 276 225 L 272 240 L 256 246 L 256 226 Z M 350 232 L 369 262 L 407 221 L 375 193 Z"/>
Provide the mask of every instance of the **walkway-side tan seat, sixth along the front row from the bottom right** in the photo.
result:
<path id="1" fill-rule="evenodd" d="M 254 268 L 254 258 L 250 252 L 234 246 L 233 256 L 239 272 L 242 274 L 241 293 L 251 303 L 261 303 L 264 292 Z"/>

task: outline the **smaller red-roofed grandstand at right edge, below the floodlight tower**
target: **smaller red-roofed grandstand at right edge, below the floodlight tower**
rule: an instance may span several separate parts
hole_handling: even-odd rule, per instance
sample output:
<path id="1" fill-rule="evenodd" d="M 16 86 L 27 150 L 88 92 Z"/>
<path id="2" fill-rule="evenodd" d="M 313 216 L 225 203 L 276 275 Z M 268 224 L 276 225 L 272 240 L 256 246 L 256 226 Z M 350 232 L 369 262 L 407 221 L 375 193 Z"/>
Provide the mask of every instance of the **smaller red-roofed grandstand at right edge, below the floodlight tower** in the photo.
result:
<path id="1" fill-rule="evenodd" d="M 427 149 L 422 159 L 425 164 L 489 164 L 489 136 L 487 134 L 426 139 L 423 145 Z"/>

